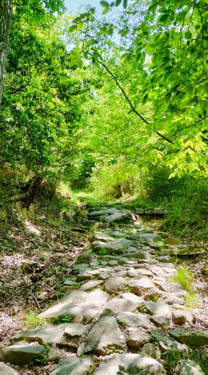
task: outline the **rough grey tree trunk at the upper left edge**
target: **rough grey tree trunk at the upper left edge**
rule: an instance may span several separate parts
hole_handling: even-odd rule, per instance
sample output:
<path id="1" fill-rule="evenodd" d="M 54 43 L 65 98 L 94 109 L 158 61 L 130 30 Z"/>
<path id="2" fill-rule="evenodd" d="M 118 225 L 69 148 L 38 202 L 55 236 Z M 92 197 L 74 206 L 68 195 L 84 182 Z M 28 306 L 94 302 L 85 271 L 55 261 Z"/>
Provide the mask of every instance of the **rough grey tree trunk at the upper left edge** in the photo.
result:
<path id="1" fill-rule="evenodd" d="M 0 104 L 4 86 L 4 71 L 9 52 L 9 32 L 12 20 L 12 0 L 0 0 Z"/>

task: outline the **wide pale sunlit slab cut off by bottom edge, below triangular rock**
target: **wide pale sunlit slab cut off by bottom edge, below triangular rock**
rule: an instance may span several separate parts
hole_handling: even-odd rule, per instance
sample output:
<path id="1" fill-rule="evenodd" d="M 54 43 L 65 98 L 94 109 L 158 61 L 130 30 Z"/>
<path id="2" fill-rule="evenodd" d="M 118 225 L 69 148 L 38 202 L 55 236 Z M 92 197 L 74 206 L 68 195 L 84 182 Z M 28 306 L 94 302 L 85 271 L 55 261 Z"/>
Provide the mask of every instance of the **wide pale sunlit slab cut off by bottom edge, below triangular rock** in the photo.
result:
<path id="1" fill-rule="evenodd" d="M 162 375 L 162 365 L 142 354 L 111 354 L 105 357 L 93 375 Z"/>

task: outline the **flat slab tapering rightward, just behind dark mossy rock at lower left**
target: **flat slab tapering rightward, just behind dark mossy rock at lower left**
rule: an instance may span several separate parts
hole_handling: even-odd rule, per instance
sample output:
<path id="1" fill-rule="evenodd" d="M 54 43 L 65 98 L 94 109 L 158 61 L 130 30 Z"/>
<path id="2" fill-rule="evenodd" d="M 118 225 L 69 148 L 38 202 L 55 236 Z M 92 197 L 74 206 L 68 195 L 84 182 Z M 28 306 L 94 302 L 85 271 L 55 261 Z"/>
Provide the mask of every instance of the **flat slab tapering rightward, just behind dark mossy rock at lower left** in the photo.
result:
<path id="1" fill-rule="evenodd" d="M 68 323 L 58 324 L 57 326 L 48 324 L 45 327 L 28 332 L 22 332 L 18 335 L 12 336 L 10 341 L 12 342 L 26 339 L 28 342 L 37 341 L 39 344 L 55 344 L 63 336 L 64 330 L 67 326 L 69 326 Z"/>

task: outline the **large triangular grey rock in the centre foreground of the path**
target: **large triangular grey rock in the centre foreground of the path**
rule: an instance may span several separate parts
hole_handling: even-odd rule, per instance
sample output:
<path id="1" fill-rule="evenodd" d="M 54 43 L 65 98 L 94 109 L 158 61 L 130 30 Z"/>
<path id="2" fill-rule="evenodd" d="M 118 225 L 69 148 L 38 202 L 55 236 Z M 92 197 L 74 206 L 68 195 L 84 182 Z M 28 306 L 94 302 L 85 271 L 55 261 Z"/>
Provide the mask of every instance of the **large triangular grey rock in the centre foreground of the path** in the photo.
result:
<path id="1" fill-rule="evenodd" d="M 77 354 L 105 355 L 111 347 L 125 350 L 126 339 L 114 317 L 102 317 L 81 342 Z"/>

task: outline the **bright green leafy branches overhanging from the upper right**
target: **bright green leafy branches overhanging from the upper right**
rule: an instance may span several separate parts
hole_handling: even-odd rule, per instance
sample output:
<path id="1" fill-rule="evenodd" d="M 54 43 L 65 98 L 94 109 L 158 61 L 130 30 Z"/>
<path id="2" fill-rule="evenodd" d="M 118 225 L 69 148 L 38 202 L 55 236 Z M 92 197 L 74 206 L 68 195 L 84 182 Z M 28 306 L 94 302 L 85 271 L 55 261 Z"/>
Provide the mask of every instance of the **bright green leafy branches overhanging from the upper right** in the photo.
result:
<path id="1" fill-rule="evenodd" d="M 145 124 L 142 132 L 142 137 L 148 138 L 145 147 L 152 147 L 158 139 L 171 145 L 166 159 L 173 169 L 171 176 L 198 171 L 206 177 L 207 3 L 201 0 L 153 0 L 127 5 L 124 0 L 100 1 L 100 5 L 104 15 L 101 20 L 97 20 L 95 9 L 90 8 L 66 28 L 66 33 L 79 32 L 75 38 L 76 48 L 69 56 L 70 66 L 82 68 L 83 62 L 89 60 L 94 68 L 108 72 L 131 110 Z M 107 13 L 108 18 L 105 18 Z M 120 45 L 120 52 L 112 62 L 109 54 L 115 40 Z M 139 87 L 139 102 L 123 86 L 118 75 L 118 67 L 122 70 L 132 63 L 147 72 Z M 137 75 L 136 68 L 129 78 L 134 79 Z M 151 108 L 148 118 L 145 108 Z M 138 142 L 133 147 L 139 150 L 140 157 L 141 144 Z M 126 145 L 126 150 L 128 148 Z"/>

